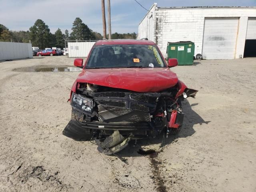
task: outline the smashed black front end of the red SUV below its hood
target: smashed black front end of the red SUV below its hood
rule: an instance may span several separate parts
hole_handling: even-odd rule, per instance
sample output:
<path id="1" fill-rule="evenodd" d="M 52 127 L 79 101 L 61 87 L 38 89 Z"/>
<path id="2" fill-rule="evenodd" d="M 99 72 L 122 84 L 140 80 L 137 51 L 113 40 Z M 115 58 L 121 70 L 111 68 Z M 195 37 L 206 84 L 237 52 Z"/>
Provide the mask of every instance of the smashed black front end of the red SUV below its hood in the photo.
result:
<path id="1" fill-rule="evenodd" d="M 187 89 L 176 98 L 177 92 L 175 88 L 160 93 L 88 91 L 80 85 L 72 93 L 72 120 L 63 134 L 75 140 L 98 141 L 95 144 L 105 153 L 112 153 L 113 147 L 114 153 L 118 152 L 132 138 L 176 134 L 184 117 L 181 101 L 195 95 Z"/>

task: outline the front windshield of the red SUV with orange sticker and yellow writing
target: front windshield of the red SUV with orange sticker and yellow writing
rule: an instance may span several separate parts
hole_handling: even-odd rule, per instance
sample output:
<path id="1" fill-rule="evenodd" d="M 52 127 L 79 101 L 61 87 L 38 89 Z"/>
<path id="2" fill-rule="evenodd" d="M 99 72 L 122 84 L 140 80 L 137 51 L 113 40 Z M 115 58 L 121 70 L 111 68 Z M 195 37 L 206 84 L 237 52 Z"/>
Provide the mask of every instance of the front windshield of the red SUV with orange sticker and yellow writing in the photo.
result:
<path id="1" fill-rule="evenodd" d="M 85 68 L 165 67 L 155 45 L 97 45 Z"/>

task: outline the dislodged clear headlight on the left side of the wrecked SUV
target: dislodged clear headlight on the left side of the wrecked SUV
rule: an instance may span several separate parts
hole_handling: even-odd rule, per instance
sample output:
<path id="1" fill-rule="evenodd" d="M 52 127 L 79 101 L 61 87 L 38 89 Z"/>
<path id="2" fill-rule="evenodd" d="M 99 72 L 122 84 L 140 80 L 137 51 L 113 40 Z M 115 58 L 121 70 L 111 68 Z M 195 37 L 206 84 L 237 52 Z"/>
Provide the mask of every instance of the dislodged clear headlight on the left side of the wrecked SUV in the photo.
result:
<path id="1" fill-rule="evenodd" d="M 93 100 L 73 93 L 71 105 L 82 112 L 92 113 Z"/>

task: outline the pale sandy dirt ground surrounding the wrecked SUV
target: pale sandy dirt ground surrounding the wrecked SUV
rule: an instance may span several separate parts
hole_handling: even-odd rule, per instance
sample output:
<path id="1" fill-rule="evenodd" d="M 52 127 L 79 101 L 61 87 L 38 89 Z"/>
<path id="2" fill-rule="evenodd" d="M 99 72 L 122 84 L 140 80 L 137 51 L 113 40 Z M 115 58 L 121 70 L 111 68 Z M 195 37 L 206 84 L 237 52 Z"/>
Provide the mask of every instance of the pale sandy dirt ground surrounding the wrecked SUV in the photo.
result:
<path id="1" fill-rule="evenodd" d="M 15 72 L 73 65 L 73 58 L 0 62 L 0 191 L 256 191 L 256 58 L 202 60 L 172 68 L 199 90 L 183 102 L 177 136 L 138 140 L 114 156 L 62 135 L 79 72 Z M 152 80 L 154 83 L 154 80 Z M 138 149 L 158 150 L 155 158 Z"/>

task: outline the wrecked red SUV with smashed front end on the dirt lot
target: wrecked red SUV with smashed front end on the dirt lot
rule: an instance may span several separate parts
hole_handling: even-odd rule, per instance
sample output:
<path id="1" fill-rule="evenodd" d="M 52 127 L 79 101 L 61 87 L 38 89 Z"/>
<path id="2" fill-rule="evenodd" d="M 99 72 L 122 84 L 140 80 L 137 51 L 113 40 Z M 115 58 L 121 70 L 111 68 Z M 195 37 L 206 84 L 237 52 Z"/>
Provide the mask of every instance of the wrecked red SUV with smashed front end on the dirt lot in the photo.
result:
<path id="1" fill-rule="evenodd" d="M 194 97 L 170 70 L 177 59 L 164 60 L 149 40 L 100 40 L 86 59 L 70 93 L 72 120 L 63 134 L 91 140 L 105 154 L 133 138 L 177 134 L 183 122 L 181 101 Z"/>

